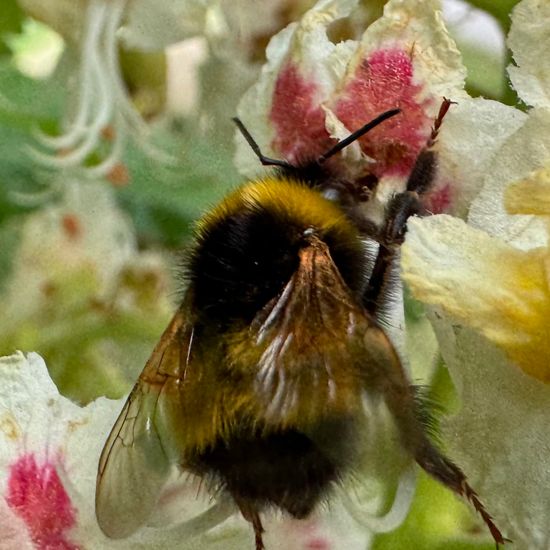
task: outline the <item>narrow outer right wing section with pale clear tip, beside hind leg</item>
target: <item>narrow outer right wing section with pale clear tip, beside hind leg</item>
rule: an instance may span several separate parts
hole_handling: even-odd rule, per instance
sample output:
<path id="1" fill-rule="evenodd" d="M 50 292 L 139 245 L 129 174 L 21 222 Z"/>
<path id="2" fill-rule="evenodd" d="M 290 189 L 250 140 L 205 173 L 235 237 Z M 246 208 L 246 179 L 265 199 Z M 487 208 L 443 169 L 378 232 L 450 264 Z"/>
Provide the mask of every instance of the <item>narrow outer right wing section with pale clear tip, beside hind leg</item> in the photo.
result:
<path id="1" fill-rule="evenodd" d="M 387 533 L 409 512 L 416 489 L 412 449 L 425 441 L 425 434 L 414 392 L 384 331 L 369 327 L 363 349 L 368 371 L 378 381 L 363 387 L 355 465 L 336 491 L 358 524 Z"/>

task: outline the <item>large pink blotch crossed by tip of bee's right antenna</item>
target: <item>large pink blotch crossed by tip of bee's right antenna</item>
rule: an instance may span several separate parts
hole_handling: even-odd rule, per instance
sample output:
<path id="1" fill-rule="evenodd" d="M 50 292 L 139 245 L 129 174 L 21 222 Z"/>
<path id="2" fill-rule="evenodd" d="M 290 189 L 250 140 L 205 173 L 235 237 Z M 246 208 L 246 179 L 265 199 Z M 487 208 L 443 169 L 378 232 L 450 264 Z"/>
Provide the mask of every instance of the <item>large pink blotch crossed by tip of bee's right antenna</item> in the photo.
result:
<path id="1" fill-rule="evenodd" d="M 393 48 L 377 50 L 364 59 L 339 94 L 334 111 L 350 131 L 384 111 L 401 109 L 360 140 L 363 151 L 376 161 L 376 176 L 408 175 L 426 145 L 433 123 L 426 111 L 433 99 L 419 101 L 421 91 L 413 83 L 410 55 Z"/>

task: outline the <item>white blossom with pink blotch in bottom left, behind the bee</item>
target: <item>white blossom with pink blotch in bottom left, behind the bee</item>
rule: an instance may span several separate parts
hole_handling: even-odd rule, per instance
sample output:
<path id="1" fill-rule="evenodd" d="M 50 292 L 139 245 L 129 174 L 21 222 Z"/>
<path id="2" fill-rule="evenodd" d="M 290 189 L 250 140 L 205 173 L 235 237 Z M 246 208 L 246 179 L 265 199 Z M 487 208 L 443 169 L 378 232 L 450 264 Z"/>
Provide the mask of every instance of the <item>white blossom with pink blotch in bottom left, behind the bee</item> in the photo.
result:
<path id="1" fill-rule="evenodd" d="M 100 398 L 86 407 L 72 403 L 59 394 L 35 353 L 1 358 L 0 380 L 0 537 L 8 544 L 3 548 L 251 548 L 248 525 L 237 515 L 214 529 L 208 517 L 178 529 L 186 515 L 210 506 L 188 478 L 174 480 L 152 520 L 172 522 L 171 527 L 146 527 L 123 541 L 105 537 L 94 512 L 97 463 L 123 400 Z M 228 508 L 224 514 L 233 512 Z M 290 550 L 340 544 L 363 550 L 371 538 L 338 504 L 307 521 L 271 517 L 266 530 L 268 548 L 277 543 Z"/>

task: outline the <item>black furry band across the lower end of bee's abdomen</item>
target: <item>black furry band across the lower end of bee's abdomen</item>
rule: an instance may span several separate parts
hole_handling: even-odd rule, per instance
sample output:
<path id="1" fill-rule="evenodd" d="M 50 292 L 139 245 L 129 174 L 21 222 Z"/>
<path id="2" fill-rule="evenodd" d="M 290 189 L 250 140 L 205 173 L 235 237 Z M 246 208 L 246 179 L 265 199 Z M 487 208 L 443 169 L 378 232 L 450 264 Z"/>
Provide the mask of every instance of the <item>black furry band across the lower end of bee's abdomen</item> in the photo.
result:
<path id="1" fill-rule="evenodd" d="M 241 427 L 228 439 L 218 439 L 195 459 L 201 475 L 213 477 L 238 503 L 260 508 L 275 506 L 295 518 L 307 517 L 341 479 L 349 450 L 344 449 L 347 419 L 320 427 L 336 442 L 330 455 L 315 436 L 298 429 L 265 432 Z M 337 453 L 336 447 L 342 448 Z"/>

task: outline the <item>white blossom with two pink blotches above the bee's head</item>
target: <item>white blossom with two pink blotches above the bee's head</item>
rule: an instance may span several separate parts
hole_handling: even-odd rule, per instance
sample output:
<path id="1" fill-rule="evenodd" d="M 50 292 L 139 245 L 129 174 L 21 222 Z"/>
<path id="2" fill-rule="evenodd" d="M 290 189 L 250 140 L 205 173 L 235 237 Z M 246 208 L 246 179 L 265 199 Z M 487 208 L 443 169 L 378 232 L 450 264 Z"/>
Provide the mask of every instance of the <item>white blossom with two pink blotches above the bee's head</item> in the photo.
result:
<path id="1" fill-rule="evenodd" d="M 401 109 L 333 161 L 362 183 L 373 217 L 381 215 L 388 197 L 403 190 L 443 98 L 467 97 L 465 68 L 440 8 L 437 0 L 390 0 L 362 36 L 335 43 L 332 26 L 353 20 L 358 2 L 322 0 L 276 35 L 238 109 L 262 152 L 290 163 L 315 159 L 382 112 Z M 257 175 L 250 147 L 242 139 L 237 144 L 238 168 Z M 438 181 L 430 210 L 452 208 L 460 190 L 451 183 Z"/>

